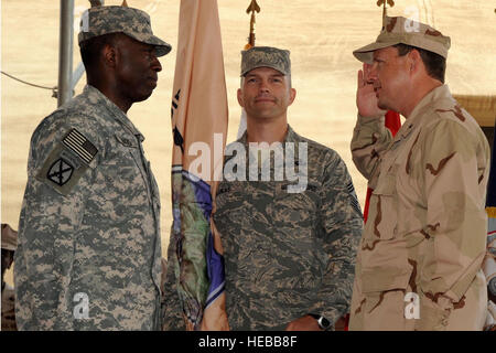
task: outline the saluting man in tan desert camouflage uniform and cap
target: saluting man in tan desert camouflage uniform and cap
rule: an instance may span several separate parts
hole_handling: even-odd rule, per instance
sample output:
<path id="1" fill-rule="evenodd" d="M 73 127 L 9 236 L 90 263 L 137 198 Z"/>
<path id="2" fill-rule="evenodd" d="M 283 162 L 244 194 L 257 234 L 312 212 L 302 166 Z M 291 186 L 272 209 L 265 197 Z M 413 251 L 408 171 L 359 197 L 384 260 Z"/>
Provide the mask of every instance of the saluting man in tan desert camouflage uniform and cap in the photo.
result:
<path id="1" fill-rule="evenodd" d="M 481 330 L 489 146 L 443 84 L 450 38 L 386 20 L 354 52 L 365 64 L 352 152 L 374 192 L 349 329 Z M 395 138 L 381 109 L 407 118 Z"/>

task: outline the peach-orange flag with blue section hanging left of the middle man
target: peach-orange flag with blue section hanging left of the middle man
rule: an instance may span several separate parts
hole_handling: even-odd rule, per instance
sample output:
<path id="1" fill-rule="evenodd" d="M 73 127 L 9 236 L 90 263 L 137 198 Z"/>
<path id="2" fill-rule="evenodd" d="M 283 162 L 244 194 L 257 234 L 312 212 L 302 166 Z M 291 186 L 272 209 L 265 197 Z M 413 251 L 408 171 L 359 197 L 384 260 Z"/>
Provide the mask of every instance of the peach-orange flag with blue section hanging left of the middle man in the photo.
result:
<path id="1" fill-rule="evenodd" d="M 186 328 L 228 329 L 224 258 L 211 218 L 228 119 L 217 0 L 181 1 L 171 116 L 176 252 L 169 266 Z"/>

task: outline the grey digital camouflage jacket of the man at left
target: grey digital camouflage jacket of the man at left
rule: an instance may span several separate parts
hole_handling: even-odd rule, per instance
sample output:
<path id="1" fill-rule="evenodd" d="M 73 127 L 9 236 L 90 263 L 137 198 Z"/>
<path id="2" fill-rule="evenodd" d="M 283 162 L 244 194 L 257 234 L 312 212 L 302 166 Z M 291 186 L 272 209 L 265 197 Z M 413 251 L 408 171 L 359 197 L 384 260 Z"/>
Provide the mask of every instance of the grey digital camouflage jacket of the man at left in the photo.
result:
<path id="1" fill-rule="evenodd" d="M 63 143 L 74 129 L 97 150 L 89 163 Z M 143 139 L 89 85 L 34 131 L 15 253 L 19 329 L 160 329 L 160 197 Z M 40 173 L 60 159 L 73 167 L 62 186 Z M 87 319 L 73 314 L 76 293 L 87 295 Z"/>

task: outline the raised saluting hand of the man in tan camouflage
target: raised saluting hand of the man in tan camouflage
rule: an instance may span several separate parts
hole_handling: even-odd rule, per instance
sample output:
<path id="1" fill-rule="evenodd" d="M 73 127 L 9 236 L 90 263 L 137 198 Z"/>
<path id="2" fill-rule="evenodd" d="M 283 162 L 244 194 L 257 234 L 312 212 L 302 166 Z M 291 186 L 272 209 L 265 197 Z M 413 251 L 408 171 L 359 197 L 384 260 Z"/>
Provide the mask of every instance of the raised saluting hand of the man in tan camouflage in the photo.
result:
<path id="1" fill-rule="evenodd" d="M 358 71 L 358 87 L 356 90 L 356 106 L 363 117 L 379 117 L 386 110 L 377 106 L 377 97 L 374 92 L 374 83 L 369 78 L 370 64 L 364 63 L 364 68 Z"/>

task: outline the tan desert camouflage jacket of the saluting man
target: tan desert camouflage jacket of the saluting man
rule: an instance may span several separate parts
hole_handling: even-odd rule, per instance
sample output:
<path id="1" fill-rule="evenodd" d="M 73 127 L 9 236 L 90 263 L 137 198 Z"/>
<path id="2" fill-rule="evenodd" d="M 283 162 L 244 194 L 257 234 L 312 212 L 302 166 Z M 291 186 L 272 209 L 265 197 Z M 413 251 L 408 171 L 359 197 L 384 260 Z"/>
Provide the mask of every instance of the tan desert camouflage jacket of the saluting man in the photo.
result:
<path id="1" fill-rule="evenodd" d="M 489 147 L 448 86 L 396 137 L 358 117 L 352 141 L 374 189 L 358 249 L 351 330 L 481 330 Z"/>

